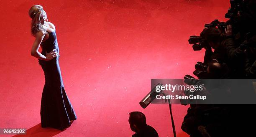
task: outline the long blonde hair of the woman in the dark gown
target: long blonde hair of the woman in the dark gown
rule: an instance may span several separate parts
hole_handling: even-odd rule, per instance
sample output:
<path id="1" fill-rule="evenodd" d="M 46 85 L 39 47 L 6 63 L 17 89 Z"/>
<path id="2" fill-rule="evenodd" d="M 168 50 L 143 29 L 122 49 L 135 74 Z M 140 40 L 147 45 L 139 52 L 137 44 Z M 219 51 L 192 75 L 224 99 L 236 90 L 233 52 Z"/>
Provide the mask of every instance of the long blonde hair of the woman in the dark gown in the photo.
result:
<path id="1" fill-rule="evenodd" d="M 33 5 L 28 10 L 28 15 L 32 19 L 31 20 L 31 35 L 36 36 L 36 33 L 39 30 L 43 30 L 44 32 L 46 32 L 44 27 L 41 25 L 41 20 L 40 20 L 41 15 L 46 16 L 46 21 L 48 21 L 48 19 L 47 19 L 46 12 L 43 10 L 43 7 L 41 5 Z"/>

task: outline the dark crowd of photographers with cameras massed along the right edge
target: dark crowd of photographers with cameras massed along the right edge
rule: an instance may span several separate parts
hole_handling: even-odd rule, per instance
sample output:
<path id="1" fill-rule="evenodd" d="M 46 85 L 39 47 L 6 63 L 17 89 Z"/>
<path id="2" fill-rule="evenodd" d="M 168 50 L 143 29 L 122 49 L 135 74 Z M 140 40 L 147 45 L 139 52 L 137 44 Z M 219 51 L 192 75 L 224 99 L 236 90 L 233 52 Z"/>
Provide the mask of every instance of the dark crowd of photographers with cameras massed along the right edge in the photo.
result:
<path id="1" fill-rule="evenodd" d="M 199 80 L 256 78 L 256 0 L 230 0 L 230 4 L 228 21 L 214 20 L 205 24 L 200 36 L 189 38 L 194 51 L 205 49 L 204 61 L 197 62 L 201 67 L 194 71 Z M 246 91 L 241 85 L 233 89 L 240 88 L 242 95 Z M 255 104 L 190 104 L 182 130 L 191 137 L 252 135 L 255 109 Z"/>

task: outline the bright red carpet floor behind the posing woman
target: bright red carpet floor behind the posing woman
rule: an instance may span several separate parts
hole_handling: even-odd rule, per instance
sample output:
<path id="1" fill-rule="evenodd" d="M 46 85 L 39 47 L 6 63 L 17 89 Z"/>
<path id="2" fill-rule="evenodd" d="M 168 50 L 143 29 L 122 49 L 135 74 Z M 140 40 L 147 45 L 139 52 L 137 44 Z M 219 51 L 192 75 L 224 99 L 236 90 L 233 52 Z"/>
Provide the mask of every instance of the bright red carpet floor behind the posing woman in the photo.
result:
<path id="1" fill-rule="evenodd" d="M 56 26 L 62 78 L 77 114 L 63 132 L 40 126 L 44 73 L 30 55 L 28 16 L 35 4 Z M 229 0 L 2 0 L 0 128 L 26 128 L 31 137 L 131 137 L 128 113 L 140 111 L 160 137 L 172 137 L 168 104 L 143 109 L 139 101 L 151 79 L 192 74 L 205 50 L 193 51 L 189 36 L 214 19 L 225 21 L 229 6 Z M 180 129 L 186 111 L 173 105 L 177 137 L 188 137 Z"/>

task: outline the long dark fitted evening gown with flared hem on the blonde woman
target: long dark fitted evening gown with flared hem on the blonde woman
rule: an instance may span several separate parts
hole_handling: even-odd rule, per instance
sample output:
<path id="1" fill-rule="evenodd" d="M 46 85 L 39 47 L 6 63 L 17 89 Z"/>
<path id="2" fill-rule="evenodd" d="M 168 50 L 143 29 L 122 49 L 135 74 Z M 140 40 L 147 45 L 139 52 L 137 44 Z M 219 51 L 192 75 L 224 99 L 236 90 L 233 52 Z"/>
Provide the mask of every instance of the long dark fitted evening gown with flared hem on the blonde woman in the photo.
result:
<path id="1" fill-rule="evenodd" d="M 49 38 L 41 43 L 42 54 L 46 55 L 54 48 L 59 52 L 56 31 L 48 32 Z M 41 126 L 63 130 L 70 127 L 69 121 L 76 120 L 77 116 L 64 90 L 59 56 L 50 61 L 39 60 L 44 70 L 45 85 L 41 100 Z"/>

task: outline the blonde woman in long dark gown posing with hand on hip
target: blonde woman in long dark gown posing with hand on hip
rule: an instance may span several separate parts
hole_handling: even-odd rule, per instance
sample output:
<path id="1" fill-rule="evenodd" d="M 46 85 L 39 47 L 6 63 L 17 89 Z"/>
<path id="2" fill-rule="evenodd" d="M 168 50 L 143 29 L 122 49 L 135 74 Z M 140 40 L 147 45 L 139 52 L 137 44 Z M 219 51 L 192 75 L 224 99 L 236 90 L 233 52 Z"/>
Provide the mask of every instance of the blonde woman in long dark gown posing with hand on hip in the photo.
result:
<path id="1" fill-rule="evenodd" d="M 31 55 L 38 58 L 43 68 L 45 85 L 41 100 L 41 126 L 64 130 L 70 127 L 76 114 L 64 90 L 59 67 L 59 46 L 54 24 L 48 22 L 41 5 L 34 5 L 28 11 L 31 20 L 31 34 L 36 38 Z M 42 52 L 38 49 L 42 48 Z"/>

